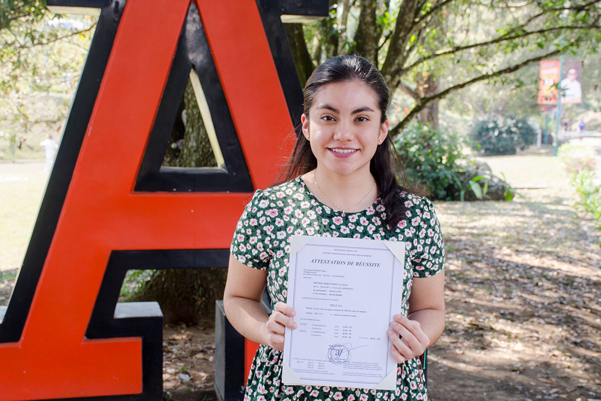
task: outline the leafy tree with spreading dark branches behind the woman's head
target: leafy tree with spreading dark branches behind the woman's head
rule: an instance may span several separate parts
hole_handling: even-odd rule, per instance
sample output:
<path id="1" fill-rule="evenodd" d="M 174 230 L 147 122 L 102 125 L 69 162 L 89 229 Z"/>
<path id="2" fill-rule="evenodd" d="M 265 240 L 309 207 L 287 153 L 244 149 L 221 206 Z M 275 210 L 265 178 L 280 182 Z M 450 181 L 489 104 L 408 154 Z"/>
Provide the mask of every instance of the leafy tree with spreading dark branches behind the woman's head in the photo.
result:
<path id="1" fill-rule="evenodd" d="M 359 54 L 376 64 L 393 99 L 409 106 L 391 128 L 395 135 L 415 117 L 438 127 L 438 101 L 468 85 L 578 47 L 596 50 L 600 4 L 331 0 L 330 19 L 304 25 L 306 41 L 291 44 L 301 79 L 332 55 Z M 288 31 L 298 35 L 299 27 Z"/>

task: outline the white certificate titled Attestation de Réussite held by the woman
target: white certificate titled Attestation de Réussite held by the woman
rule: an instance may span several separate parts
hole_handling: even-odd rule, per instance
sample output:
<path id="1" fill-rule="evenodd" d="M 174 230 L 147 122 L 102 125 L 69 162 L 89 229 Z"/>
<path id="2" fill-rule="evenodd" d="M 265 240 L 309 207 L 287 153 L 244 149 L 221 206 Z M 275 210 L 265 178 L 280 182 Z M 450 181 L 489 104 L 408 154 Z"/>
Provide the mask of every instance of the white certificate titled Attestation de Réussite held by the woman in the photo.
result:
<path id="1" fill-rule="evenodd" d="M 400 313 L 405 242 L 292 236 L 282 382 L 394 390 L 386 331 Z"/>

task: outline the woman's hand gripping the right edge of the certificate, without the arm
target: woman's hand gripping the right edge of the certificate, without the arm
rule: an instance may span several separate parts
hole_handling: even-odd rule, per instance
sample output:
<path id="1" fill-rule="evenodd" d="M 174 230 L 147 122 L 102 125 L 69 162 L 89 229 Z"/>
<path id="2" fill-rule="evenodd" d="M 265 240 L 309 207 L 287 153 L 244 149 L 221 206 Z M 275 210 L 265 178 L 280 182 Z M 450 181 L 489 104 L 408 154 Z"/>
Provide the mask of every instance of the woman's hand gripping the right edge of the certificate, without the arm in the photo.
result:
<path id="1" fill-rule="evenodd" d="M 394 315 L 394 321 L 390 323 L 388 337 L 392 340 L 390 350 L 392 357 L 397 363 L 403 363 L 411 358 L 418 357 L 424 353 L 430 344 L 430 338 L 421 329 L 417 320 L 410 320 L 400 314 Z M 401 335 L 399 338 L 398 335 Z"/>

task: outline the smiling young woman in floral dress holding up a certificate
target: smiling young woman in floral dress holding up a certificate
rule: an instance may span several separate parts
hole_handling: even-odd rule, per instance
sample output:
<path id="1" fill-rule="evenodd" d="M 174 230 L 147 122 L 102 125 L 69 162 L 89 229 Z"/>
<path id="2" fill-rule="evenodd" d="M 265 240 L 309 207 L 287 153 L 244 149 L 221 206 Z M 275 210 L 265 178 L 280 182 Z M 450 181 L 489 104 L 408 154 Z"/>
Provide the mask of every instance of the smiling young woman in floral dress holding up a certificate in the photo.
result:
<path id="1" fill-rule="evenodd" d="M 285 182 L 255 192 L 231 245 L 225 313 L 241 334 L 261 344 L 245 401 L 427 400 L 416 357 L 445 325 L 444 244 L 432 204 L 397 181 L 388 88 L 364 58 L 335 57 L 314 70 L 304 101 L 303 135 Z M 407 242 L 410 279 L 398 289 L 403 305 L 386 333 L 399 364 L 395 391 L 282 384 L 284 329 L 297 327 L 285 303 L 293 234 Z M 260 305 L 265 286 L 270 315 Z"/>

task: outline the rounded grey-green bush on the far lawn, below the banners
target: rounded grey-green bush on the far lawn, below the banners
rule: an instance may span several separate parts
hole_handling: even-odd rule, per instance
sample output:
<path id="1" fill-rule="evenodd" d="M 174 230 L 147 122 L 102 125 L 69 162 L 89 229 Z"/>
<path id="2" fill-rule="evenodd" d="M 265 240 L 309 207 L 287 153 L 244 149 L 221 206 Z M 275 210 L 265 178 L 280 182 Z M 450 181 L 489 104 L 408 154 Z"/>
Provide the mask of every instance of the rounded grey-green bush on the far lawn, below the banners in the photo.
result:
<path id="1" fill-rule="evenodd" d="M 534 144 L 536 133 L 523 118 L 492 115 L 479 121 L 470 136 L 472 147 L 484 155 L 514 155 L 518 148 Z"/>

